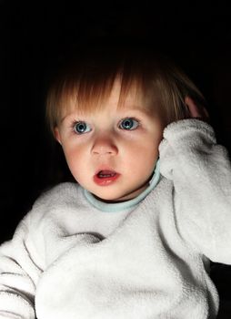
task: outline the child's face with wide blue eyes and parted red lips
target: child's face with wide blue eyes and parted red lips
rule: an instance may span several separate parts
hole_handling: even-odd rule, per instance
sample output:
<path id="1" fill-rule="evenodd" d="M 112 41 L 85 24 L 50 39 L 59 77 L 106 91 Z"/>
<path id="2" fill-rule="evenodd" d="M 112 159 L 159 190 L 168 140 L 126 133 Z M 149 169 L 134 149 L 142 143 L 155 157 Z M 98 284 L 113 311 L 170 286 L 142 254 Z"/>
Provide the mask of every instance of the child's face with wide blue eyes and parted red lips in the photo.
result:
<path id="1" fill-rule="evenodd" d="M 116 81 L 105 108 L 91 114 L 74 108 L 55 129 L 75 180 L 105 201 L 126 201 L 146 189 L 164 129 L 133 90 L 117 108 L 119 89 Z"/>

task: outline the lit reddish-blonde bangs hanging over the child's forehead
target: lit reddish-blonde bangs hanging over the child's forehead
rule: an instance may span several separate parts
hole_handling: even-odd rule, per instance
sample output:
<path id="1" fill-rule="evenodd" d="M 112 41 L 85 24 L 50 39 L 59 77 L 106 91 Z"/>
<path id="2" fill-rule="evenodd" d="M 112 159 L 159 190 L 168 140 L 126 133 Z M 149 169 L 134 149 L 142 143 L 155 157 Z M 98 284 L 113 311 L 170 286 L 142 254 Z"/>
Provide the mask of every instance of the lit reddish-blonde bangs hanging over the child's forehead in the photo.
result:
<path id="1" fill-rule="evenodd" d="M 123 71 L 100 78 L 86 77 L 81 81 L 71 80 L 65 82 L 57 97 L 57 109 L 62 113 L 77 109 L 80 113 L 94 113 L 106 107 L 106 101 L 110 97 L 113 87 L 118 84 L 119 99 L 118 108 L 122 108 L 127 94 L 133 90 L 134 94 L 142 94 L 144 87 L 140 77 L 127 74 Z M 61 114 L 58 114 L 59 118 Z"/>

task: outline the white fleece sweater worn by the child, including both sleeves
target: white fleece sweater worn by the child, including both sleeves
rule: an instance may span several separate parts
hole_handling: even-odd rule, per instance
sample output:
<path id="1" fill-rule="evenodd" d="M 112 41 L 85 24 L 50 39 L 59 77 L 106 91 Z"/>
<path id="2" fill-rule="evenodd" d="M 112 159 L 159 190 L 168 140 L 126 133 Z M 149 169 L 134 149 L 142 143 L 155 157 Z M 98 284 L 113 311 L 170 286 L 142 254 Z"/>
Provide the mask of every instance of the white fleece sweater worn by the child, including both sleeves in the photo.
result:
<path id="1" fill-rule="evenodd" d="M 0 318 L 216 318 L 208 260 L 231 263 L 231 168 L 213 129 L 170 124 L 162 178 L 132 211 L 99 211 L 64 183 L 0 248 Z"/>

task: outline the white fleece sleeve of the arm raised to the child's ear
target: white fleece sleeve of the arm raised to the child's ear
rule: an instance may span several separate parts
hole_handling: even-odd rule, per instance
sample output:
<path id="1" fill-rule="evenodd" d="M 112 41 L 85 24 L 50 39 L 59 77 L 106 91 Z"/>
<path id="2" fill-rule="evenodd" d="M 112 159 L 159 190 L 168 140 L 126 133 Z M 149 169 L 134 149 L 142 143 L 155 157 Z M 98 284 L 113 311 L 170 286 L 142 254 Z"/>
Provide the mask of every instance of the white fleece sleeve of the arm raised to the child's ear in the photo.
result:
<path id="1" fill-rule="evenodd" d="M 231 263 L 231 165 L 212 127 L 183 119 L 164 130 L 160 172 L 174 184 L 181 236 L 213 262 Z"/>

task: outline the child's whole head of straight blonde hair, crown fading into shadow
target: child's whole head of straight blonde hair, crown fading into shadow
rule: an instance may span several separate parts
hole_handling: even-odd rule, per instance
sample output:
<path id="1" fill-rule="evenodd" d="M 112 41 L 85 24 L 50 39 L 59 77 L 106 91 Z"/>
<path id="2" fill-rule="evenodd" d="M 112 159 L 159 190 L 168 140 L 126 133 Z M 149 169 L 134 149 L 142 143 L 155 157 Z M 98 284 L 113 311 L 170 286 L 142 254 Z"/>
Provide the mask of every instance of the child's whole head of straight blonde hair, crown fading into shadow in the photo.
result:
<path id="1" fill-rule="evenodd" d="M 198 88 L 166 57 L 150 50 L 96 49 L 76 54 L 61 67 L 52 81 L 46 99 L 46 118 L 52 131 L 64 112 L 77 108 L 93 112 L 102 108 L 119 78 L 121 90 L 118 106 L 123 106 L 127 92 L 136 87 L 148 103 L 149 111 L 156 108 L 164 114 L 166 124 L 189 116 L 186 96 L 196 104 L 205 100 Z"/>

